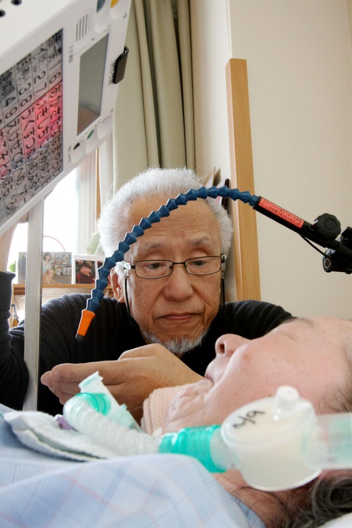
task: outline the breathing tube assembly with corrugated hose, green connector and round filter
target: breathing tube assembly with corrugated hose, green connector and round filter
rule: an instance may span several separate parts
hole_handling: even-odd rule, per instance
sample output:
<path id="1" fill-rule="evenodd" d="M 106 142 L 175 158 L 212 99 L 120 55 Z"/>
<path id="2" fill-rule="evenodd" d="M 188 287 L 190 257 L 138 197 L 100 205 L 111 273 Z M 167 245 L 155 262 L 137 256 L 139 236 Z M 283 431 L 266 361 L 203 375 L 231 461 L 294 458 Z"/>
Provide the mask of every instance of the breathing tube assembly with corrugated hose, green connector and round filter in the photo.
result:
<path id="1" fill-rule="evenodd" d="M 161 437 L 127 429 L 77 396 L 65 403 L 66 420 L 117 455 L 189 455 L 213 473 L 239 469 L 249 485 L 265 491 L 301 486 L 322 469 L 351 467 L 352 414 L 317 417 L 312 404 L 290 386 L 234 411 L 221 426 Z"/>

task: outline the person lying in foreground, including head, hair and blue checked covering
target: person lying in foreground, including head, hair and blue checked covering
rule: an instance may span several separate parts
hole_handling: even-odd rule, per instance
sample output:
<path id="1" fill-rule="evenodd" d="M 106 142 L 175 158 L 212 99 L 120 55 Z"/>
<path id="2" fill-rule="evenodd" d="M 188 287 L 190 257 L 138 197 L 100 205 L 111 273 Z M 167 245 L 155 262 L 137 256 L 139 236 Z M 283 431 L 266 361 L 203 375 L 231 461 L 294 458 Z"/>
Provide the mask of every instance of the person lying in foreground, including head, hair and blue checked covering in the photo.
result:
<path id="1" fill-rule="evenodd" d="M 178 388 L 170 404 L 175 389 L 150 395 L 144 406 L 146 429 L 221 423 L 244 404 L 274 395 L 281 385 L 296 388 L 317 413 L 351 412 L 351 330 L 345 320 L 311 318 L 291 320 L 252 341 L 224 335 L 204 380 Z M 313 528 L 352 511 L 349 470 L 324 472 L 300 488 L 267 493 L 248 486 L 236 470 L 217 475 L 215 482 L 195 460 L 179 455 L 60 461 L 53 469 L 54 459 L 50 465 L 43 455 L 19 455 L 21 448 L 8 442 L 3 440 L 0 451 L 0 473 L 7 475 L 0 488 L 0 526 Z M 28 457 L 29 479 L 28 469 L 18 476 Z M 41 464 L 36 474 L 34 459 Z"/>

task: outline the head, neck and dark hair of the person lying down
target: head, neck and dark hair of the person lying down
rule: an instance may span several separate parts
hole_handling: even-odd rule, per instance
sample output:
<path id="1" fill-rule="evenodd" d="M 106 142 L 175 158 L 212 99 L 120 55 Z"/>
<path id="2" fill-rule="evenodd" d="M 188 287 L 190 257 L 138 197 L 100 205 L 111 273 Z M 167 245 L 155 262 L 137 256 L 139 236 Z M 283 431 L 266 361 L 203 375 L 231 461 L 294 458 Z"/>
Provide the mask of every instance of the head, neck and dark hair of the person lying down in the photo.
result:
<path id="1" fill-rule="evenodd" d="M 150 395 L 144 403 L 145 428 L 151 433 L 161 426 L 168 432 L 221 423 L 244 404 L 273 396 L 280 385 L 296 388 L 318 414 L 351 412 L 351 334 L 346 320 L 316 317 L 291 319 L 252 341 L 223 335 L 205 380 Z M 267 527 L 319 526 L 352 511 L 352 472 L 325 472 L 295 491 L 275 494 L 246 486 L 238 471 L 227 471 L 217 480 Z"/>

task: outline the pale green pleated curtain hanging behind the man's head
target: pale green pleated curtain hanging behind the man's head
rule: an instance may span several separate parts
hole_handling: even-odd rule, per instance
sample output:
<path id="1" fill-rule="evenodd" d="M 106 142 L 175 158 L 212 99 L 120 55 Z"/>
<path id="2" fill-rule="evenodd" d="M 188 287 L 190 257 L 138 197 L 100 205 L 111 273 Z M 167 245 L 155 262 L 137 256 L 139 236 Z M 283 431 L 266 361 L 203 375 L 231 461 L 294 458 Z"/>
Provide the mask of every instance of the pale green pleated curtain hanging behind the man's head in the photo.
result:
<path id="1" fill-rule="evenodd" d="M 132 0 L 113 126 L 113 191 L 147 167 L 195 168 L 188 0 Z"/>

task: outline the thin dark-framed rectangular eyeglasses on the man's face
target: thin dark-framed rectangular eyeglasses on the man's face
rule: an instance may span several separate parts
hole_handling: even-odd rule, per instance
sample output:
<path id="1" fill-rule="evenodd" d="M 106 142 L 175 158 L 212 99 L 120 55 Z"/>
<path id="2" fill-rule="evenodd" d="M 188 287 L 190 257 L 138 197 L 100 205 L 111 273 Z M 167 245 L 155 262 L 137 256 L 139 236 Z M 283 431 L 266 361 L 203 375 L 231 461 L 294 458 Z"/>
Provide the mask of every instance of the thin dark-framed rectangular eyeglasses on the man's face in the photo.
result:
<path id="1" fill-rule="evenodd" d="M 137 277 L 141 279 L 160 279 L 171 275 L 174 266 L 182 264 L 189 275 L 212 275 L 221 270 L 225 262 L 225 255 L 221 257 L 197 257 L 184 262 L 172 260 L 139 260 L 135 265 L 122 261 L 122 268 L 127 275 L 128 270 L 134 269 Z"/>

